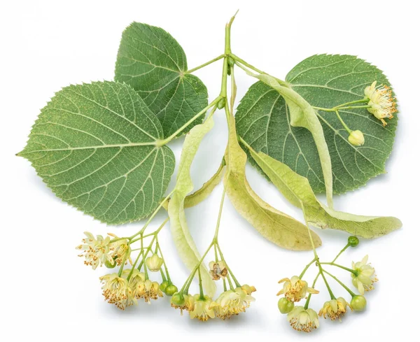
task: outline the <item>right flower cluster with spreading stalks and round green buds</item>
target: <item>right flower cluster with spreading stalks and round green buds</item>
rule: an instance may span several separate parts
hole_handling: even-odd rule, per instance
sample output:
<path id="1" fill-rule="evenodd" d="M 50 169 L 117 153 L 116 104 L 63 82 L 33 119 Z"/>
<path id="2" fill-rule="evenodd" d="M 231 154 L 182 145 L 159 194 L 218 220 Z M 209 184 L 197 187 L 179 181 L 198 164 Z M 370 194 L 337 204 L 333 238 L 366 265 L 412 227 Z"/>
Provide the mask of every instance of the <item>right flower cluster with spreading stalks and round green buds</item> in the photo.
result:
<path id="1" fill-rule="evenodd" d="M 347 312 L 347 308 L 350 308 L 351 311 L 363 311 L 365 309 L 366 299 L 363 294 L 365 291 L 372 290 L 373 283 L 377 281 L 377 278 L 374 275 L 374 268 L 370 266 L 370 264 L 367 264 L 367 255 L 360 262 L 353 262 L 352 269 L 335 263 L 335 260 L 344 252 L 344 250 L 346 250 L 346 248 L 356 247 L 358 243 L 359 241 L 356 236 L 350 236 L 346 246 L 338 253 L 337 257 L 335 257 L 332 262 L 320 262 L 318 255 L 314 253 L 314 259 L 305 267 L 300 276 L 293 276 L 290 279 L 284 278 L 279 281 L 279 283 L 283 283 L 283 288 L 277 295 L 284 294 L 284 297 L 279 299 L 279 311 L 283 314 L 287 314 L 287 320 L 290 322 L 290 326 L 293 327 L 293 329 L 300 332 L 311 332 L 313 329 L 319 327 L 318 316 L 329 318 L 332 321 L 339 320 L 341 322 L 343 316 Z M 311 295 L 318 293 L 318 291 L 309 287 L 307 282 L 302 280 L 302 276 L 304 276 L 304 273 L 312 264 L 315 264 L 318 267 L 318 275 L 314 279 L 314 285 L 316 280 L 318 280 L 318 277 L 321 276 L 331 297 L 330 300 L 325 301 L 318 314 L 316 314 L 316 311 L 309 308 Z M 353 291 L 342 283 L 341 280 L 333 276 L 329 271 L 326 271 L 323 268 L 323 265 L 336 266 L 340 269 L 349 271 L 352 283 L 360 294 L 353 293 Z M 337 283 L 342 285 L 344 290 L 351 295 L 350 303 L 348 303 L 344 297 L 336 298 L 334 296 L 330 285 L 325 278 L 325 274 L 336 280 Z M 307 299 L 304 306 L 295 306 L 296 302 L 304 298 Z"/>

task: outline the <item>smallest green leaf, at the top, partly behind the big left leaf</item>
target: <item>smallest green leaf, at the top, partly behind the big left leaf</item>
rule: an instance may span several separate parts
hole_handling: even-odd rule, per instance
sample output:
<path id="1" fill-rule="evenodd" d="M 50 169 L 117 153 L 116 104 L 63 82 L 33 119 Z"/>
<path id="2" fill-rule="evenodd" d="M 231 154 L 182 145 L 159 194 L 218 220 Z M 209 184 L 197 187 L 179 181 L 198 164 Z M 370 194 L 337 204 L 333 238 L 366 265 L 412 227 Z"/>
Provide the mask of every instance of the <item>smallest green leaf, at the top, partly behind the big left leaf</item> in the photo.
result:
<path id="1" fill-rule="evenodd" d="M 186 54 L 167 31 L 133 22 L 123 32 L 115 79 L 131 85 L 158 116 L 165 138 L 207 106 L 207 88 L 186 73 Z M 202 117 L 192 122 L 183 133 Z"/>

